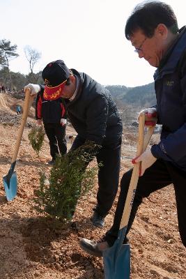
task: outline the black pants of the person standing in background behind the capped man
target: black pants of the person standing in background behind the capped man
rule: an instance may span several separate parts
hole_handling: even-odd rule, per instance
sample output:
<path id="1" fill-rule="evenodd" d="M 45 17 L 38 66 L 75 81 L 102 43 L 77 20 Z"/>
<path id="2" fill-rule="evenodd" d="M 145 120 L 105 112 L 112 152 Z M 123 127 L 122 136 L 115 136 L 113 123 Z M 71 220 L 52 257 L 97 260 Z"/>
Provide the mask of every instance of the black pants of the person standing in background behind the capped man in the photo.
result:
<path id="1" fill-rule="evenodd" d="M 63 155 L 67 151 L 65 126 L 61 126 L 60 123 L 44 123 L 44 126 L 49 139 L 50 155 L 55 160 L 59 153 Z"/>

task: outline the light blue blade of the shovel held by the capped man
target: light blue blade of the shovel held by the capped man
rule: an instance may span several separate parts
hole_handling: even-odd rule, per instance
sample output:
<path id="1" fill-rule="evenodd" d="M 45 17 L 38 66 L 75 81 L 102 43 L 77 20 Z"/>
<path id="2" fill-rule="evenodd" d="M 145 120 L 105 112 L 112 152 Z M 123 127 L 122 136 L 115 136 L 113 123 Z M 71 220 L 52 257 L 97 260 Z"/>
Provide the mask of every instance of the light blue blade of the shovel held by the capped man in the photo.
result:
<path id="1" fill-rule="evenodd" d="M 17 175 L 16 172 L 10 176 L 6 175 L 3 177 L 3 185 L 5 188 L 6 199 L 12 201 L 17 195 Z"/>

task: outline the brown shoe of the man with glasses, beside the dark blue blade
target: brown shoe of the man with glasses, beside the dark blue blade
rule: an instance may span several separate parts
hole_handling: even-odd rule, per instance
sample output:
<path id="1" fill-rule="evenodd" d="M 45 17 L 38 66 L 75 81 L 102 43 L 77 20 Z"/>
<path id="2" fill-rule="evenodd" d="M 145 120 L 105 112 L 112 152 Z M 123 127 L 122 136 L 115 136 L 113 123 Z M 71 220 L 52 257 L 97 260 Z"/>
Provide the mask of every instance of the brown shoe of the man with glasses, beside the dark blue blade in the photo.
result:
<path id="1" fill-rule="evenodd" d="M 109 248 L 107 241 L 95 242 L 89 239 L 80 239 L 80 247 L 89 255 L 102 257 L 102 252 Z"/>

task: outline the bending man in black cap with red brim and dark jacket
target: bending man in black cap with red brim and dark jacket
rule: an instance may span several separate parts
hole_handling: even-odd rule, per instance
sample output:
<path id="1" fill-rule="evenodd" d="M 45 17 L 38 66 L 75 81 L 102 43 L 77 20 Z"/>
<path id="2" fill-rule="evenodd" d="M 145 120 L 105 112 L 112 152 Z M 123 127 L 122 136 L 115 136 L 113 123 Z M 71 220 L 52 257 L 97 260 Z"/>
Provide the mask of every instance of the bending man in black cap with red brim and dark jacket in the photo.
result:
<path id="1" fill-rule="evenodd" d="M 121 163 L 123 126 L 116 104 L 104 86 L 86 73 L 69 69 L 62 60 L 48 63 L 42 78 L 45 86 L 41 86 L 41 91 L 46 100 L 65 100 L 68 118 L 77 131 L 71 149 L 86 141 L 101 146 L 96 154 L 98 163 L 102 163 L 98 171 L 98 202 L 91 220 L 93 225 L 103 227 L 118 190 Z M 38 84 L 33 84 L 31 94 L 38 90 Z"/>

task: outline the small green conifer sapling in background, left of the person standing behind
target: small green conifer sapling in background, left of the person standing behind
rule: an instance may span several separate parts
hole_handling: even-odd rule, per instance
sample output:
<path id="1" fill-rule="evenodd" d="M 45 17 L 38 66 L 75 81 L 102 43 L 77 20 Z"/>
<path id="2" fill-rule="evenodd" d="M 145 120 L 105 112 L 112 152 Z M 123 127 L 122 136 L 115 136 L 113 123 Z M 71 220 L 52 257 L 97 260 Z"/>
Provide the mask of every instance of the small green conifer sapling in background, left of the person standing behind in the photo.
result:
<path id="1" fill-rule="evenodd" d="M 42 125 L 34 126 L 29 135 L 29 141 L 33 149 L 36 151 L 37 155 L 39 155 L 40 149 L 42 147 L 42 143 L 45 137 L 45 130 Z"/>

